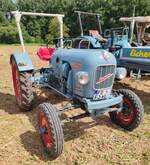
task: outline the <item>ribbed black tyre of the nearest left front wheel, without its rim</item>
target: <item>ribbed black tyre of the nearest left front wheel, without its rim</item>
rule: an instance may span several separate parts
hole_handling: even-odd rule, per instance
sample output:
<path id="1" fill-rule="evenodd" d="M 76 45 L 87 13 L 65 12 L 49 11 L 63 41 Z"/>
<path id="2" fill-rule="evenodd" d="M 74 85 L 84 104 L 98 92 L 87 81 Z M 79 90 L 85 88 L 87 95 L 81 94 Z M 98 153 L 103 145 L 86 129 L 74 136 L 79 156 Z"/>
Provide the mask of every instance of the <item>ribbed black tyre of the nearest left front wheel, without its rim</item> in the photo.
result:
<path id="1" fill-rule="evenodd" d="M 46 152 L 50 155 L 50 158 L 53 160 L 56 159 L 59 155 L 61 155 L 63 151 L 64 135 L 61 126 L 61 121 L 58 117 L 56 108 L 49 103 L 40 104 L 38 106 L 38 110 L 39 110 L 38 112 L 39 132 L 40 132 L 40 112 L 44 113 L 44 116 L 48 118 L 48 125 L 52 133 L 51 149 L 47 148 L 47 146 L 44 144 L 41 133 L 40 133 L 40 137 Z"/>

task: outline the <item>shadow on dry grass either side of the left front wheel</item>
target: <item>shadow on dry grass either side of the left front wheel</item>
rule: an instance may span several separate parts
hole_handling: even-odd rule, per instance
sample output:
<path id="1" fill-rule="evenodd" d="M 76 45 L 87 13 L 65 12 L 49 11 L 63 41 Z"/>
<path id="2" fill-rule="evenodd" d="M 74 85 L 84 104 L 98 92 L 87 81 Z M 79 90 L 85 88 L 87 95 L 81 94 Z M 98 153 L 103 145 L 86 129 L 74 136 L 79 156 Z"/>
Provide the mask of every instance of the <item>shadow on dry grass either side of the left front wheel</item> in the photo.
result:
<path id="1" fill-rule="evenodd" d="M 88 129 L 93 128 L 97 125 L 107 125 L 113 129 L 118 129 L 116 125 L 111 123 L 108 116 L 101 116 L 96 121 L 92 120 L 89 122 L 83 122 L 81 120 L 71 120 L 65 122 L 63 125 L 64 141 L 67 142 L 80 138 L 86 133 Z M 26 151 L 30 153 L 31 156 L 35 158 L 38 157 L 43 161 L 50 161 L 50 157 L 44 150 L 38 131 L 27 131 L 20 135 L 20 139 L 22 145 L 24 146 Z"/>

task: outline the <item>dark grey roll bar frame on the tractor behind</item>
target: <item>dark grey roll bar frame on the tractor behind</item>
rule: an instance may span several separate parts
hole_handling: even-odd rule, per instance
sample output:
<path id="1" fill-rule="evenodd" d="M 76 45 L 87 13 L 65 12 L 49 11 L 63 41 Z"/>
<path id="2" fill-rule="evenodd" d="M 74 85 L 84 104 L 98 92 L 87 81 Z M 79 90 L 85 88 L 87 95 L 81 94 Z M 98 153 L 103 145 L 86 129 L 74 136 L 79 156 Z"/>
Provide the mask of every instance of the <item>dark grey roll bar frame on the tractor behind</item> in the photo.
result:
<path id="1" fill-rule="evenodd" d="M 99 13 L 89 13 L 89 12 L 83 12 L 83 11 L 75 11 L 75 13 L 78 14 L 78 19 L 79 19 L 79 24 L 80 24 L 80 30 L 81 30 L 81 36 L 84 35 L 81 15 L 96 16 L 97 17 L 97 21 L 98 21 L 98 26 L 99 26 L 99 32 L 100 32 L 100 34 L 102 34 L 102 27 L 101 27 L 101 21 L 100 21 L 100 16 L 101 15 Z"/>

